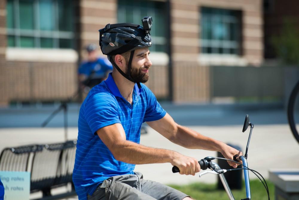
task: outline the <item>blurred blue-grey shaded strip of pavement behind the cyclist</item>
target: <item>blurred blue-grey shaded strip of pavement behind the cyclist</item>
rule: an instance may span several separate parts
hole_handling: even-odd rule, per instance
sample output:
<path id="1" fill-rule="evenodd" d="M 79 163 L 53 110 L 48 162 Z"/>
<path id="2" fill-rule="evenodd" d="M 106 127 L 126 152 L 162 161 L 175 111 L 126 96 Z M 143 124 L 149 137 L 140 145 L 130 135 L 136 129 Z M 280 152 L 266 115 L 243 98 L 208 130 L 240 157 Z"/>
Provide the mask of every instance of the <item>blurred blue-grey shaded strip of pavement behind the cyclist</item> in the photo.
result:
<path id="1" fill-rule="evenodd" d="M 245 115 L 254 124 L 287 124 L 283 104 L 173 104 L 162 102 L 162 107 L 181 125 L 240 125 Z M 9 107 L 0 109 L 0 128 L 41 127 L 42 123 L 60 104 L 52 106 Z M 68 104 L 68 126 L 77 127 L 80 104 Z M 47 127 L 63 127 L 63 110 Z"/>

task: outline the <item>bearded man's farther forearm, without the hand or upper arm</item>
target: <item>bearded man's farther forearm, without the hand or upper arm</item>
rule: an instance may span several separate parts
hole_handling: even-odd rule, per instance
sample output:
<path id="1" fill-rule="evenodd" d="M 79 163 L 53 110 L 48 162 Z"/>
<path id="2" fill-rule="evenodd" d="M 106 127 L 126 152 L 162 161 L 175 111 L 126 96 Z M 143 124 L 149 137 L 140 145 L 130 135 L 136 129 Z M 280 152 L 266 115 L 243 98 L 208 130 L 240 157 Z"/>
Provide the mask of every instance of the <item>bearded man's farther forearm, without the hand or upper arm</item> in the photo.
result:
<path id="1" fill-rule="evenodd" d="M 178 131 L 176 133 L 174 143 L 186 147 L 188 149 L 204 149 L 210 151 L 222 151 L 223 142 L 206 137 L 190 128 L 177 125 Z"/>

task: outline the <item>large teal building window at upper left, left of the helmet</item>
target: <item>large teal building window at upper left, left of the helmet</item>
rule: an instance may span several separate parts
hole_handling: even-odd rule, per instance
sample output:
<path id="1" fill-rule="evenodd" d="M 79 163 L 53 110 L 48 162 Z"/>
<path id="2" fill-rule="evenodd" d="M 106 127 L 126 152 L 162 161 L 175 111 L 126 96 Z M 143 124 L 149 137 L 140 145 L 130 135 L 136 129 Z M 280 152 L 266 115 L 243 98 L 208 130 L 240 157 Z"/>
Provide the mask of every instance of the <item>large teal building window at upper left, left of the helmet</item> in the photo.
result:
<path id="1" fill-rule="evenodd" d="M 73 48 L 71 0 L 7 0 L 7 45 Z"/>

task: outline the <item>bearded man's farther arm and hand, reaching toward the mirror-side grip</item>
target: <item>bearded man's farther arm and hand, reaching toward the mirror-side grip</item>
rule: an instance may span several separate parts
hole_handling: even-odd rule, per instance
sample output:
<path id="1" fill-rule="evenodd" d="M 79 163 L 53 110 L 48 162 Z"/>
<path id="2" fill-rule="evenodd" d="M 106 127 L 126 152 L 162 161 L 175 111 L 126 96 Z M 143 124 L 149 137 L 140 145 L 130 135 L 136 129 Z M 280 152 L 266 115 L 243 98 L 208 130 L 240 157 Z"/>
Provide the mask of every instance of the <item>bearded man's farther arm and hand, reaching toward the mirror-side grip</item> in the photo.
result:
<path id="1" fill-rule="evenodd" d="M 234 149 L 221 141 L 206 137 L 196 131 L 177 124 L 168 113 L 162 119 L 147 122 L 147 124 L 171 142 L 188 149 L 219 151 L 228 159 L 233 159 L 234 155 L 242 155 L 242 152 L 239 152 L 237 149 Z M 228 161 L 228 164 L 237 167 L 237 164 L 234 162 Z"/>

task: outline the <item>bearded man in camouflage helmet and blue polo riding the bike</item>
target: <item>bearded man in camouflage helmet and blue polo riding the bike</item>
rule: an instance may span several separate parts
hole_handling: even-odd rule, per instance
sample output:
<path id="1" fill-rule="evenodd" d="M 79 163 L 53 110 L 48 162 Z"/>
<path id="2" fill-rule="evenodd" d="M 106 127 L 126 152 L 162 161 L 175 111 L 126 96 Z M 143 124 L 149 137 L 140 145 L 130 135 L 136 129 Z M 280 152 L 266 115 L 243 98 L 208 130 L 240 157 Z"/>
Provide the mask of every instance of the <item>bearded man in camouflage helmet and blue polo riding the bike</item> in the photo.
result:
<path id="1" fill-rule="evenodd" d="M 185 148 L 219 151 L 228 159 L 242 154 L 223 142 L 178 125 L 149 88 L 141 84 L 148 81 L 152 66 L 149 59 L 150 27 L 144 27 L 108 24 L 100 30 L 101 50 L 108 55 L 113 71 L 107 80 L 90 90 L 80 108 L 73 171 L 80 200 L 191 199 L 134 172 L 135 164 L 147 163 L 171 163 L 185 175 L 200 171 L 199 163 L 193 157 L 141 145 L 143 122 Z M 236 163 L 228 163 L 237 167 Z"/>

